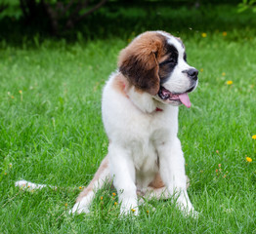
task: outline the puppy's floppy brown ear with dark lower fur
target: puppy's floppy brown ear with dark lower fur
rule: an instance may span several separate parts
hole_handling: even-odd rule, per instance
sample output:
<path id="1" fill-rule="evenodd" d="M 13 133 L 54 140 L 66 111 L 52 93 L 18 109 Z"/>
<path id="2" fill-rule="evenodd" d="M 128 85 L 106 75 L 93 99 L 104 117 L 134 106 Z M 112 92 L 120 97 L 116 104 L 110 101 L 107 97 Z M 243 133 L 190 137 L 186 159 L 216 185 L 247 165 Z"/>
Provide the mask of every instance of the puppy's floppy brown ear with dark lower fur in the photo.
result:
<path id="1" fill-rule="evenodd" d="M 162 48 L 159 37 L 136 38 L 121 51 L 118 66 L 128 81 L 141 91 L 155 96 L 160 89 L 157 56 Z"/>

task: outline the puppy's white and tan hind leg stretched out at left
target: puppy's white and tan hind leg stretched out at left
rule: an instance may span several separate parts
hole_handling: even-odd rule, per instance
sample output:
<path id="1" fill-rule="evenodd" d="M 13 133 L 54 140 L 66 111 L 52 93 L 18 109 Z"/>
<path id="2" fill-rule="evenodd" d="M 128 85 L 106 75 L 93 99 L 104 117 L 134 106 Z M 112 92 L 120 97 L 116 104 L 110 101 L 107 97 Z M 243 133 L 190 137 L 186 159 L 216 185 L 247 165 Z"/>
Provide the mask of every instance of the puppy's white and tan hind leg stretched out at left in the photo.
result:
<path id="1" fill-rule="evenodd" d="M 89 208 L 96 192 L 101 189 L 107 181 L 110 181 L 110 174 L 108 167 L 108 157 L 106 156 L 92 181 L 77 197 L 76 203 L 70 213 L 89 213 Z"/>

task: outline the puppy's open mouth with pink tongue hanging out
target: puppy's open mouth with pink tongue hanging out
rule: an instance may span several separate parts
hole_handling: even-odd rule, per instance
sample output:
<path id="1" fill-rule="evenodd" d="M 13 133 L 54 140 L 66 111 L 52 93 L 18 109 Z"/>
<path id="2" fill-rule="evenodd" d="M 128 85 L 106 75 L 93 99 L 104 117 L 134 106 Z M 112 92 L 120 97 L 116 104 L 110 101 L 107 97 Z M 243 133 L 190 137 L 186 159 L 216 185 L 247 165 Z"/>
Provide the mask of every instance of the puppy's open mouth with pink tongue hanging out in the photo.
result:
<path id="1" fill-rule="evenodd" d="M 193 89 L 194 89 L 194 87 L 192 87 L 191 89 L 189 89 L 188 91 L 186 91 L 183 94 L 173 94 L 161 86 L 160 90 L 158 92 L 158 97 L 167 102 L 175 101 L 175 102 L 183 103 L 186 107 L 190 108 L 192 106 L 192 102 L 189 98 L 188 93 L 191 93 L 193 91 Z"/>

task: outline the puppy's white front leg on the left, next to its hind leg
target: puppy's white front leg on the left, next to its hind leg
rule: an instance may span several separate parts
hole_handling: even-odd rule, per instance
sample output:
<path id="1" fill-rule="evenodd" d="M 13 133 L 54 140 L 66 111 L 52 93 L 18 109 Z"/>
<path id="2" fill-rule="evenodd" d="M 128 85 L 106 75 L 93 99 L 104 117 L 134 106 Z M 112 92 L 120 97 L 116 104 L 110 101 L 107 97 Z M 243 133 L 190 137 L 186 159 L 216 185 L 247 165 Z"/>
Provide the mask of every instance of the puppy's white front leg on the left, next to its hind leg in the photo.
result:
<path id="1" fill-rule="evenodd" d="M 121 205 L 120 213 L 138 215 L 135 167 L 130 152 L 111 143 L 108 147 L 108 155 L 110 174 Z"/>

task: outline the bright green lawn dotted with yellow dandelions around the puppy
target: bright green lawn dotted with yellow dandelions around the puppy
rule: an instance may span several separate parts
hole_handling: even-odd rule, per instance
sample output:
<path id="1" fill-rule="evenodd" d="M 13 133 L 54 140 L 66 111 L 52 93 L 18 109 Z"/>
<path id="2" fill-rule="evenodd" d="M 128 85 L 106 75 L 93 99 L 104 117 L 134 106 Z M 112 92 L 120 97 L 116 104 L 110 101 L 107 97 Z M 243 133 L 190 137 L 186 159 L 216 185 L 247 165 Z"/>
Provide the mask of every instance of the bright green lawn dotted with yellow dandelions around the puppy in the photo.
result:
<path id="1" fill-rule="evenodd" d="M 177 32 L 178 22 L 173 30 L 159 21 L 161 29 L 183 38 L 190 64 L 201 70 L 192 108 L 180 108 L 179 133 L 198 219 L 184 217 L 168 201 L 147 202 L 138 217 L 121 219 L 108 188 L 98 193 L 90 215 L 67 213 L 78 187 L 90 181 L 107 154 L 101 120 L 107 76 L 116 68 L 118 52 L 154 18 L 146 28 L 138 22 L 138 31 L 116 29 L 107 40 L 100 35 L 85 41 L 82 32 L 71 43 L 38 34 L 21 37 L 21 44 L 3 39 L 0 233 L 256 233 L 256 31 L 250 22 L 255 16 L 235 15 L 237 26 L 229 27 L 235 8 L 229 9 L 212 8 L 205 21 L 221 12 L 222 23 L 209 27 L 184 8 L 175 10 L 182 19 L 192 18 L 192 30 Z M 14 186 L 21 178 L 60 189 L 22 191 Z"/>

